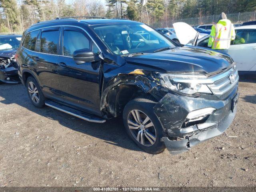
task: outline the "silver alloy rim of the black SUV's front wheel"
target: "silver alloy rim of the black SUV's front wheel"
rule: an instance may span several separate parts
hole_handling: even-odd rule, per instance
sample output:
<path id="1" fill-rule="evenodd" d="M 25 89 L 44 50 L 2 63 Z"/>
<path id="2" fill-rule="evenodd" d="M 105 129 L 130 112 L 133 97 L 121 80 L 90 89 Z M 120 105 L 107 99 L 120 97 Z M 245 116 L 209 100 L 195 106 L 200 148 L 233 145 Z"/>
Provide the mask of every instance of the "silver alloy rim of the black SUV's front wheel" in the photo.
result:
<path id="1" fill-rule="evenodd" d="M 144 112 L 132 110 L 128 114 L 127 120 L 130 132 L 140 144 L 152 146 L 156 142 L 156 129 Z"/>

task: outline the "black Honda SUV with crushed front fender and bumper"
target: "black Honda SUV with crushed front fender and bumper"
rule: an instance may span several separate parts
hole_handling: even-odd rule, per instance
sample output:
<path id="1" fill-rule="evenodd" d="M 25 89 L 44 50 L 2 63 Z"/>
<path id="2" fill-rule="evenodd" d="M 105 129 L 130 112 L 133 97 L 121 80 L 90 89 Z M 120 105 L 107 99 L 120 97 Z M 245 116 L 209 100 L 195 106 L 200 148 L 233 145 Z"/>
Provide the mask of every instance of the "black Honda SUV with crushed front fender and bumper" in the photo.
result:
<path id="1" fill-rule="evenodd" d="M 143 150 L 178 154 L 222 134 L 236 114 L 230 56 L 180 46 L 125 19 L 58 18 L 26 30 L 18 74 L 36 107 L 90 122 L 122 116 Z"/>

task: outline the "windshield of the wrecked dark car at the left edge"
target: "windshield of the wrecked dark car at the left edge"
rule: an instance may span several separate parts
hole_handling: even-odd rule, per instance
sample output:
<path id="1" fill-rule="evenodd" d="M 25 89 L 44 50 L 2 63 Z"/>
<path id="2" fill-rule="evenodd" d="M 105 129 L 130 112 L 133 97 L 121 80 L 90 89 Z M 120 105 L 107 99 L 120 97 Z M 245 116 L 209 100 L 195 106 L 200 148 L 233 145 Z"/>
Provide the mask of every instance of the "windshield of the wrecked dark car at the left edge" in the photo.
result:
<path id="1" fill-rule="evenodd" d="M 20 46 L 21 37 L 0 37 L 0 50 L 17 49 Z"/>

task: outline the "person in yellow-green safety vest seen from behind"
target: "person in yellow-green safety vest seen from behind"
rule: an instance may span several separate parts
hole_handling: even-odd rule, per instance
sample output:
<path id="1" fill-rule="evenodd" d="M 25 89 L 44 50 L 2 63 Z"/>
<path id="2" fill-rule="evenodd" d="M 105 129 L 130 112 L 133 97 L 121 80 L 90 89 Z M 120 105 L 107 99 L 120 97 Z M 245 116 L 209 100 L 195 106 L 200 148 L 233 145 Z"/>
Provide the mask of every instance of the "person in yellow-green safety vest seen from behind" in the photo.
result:
<path id="1" fill-rule="evenodd" d="M 225 13 L 220 14 L 218 22 L 212 26 L 208 48 L 223 50 L 230 48 L 230 42 L 235 39 L 236 33 L 233 24 Z"/>

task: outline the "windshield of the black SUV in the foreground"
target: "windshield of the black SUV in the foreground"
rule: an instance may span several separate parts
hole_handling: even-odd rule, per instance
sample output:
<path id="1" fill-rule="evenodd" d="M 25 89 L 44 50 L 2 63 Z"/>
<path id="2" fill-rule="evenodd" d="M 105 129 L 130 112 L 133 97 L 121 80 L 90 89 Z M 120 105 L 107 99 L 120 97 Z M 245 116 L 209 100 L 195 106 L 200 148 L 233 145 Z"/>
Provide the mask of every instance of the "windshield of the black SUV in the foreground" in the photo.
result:
<path id="1" fill-rule="evenodd" d="M 101 25 L 95 26 L 93 30 L 117 55 L 154 52 L 161 48 L 175 47 L 164 36 L 141 23 Z"/>

